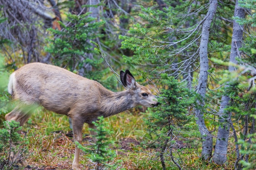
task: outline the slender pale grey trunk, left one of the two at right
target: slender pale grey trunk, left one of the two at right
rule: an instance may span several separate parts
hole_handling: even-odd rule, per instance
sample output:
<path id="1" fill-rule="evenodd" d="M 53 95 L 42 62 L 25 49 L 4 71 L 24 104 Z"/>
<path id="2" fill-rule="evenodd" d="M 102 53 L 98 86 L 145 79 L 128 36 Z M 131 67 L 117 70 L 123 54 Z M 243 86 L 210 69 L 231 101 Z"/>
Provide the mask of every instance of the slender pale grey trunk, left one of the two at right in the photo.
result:
<path id="1" fill-rule="evenodd" d="M 202 96 L 202 98 L 205 97 L 206 88 L 207 88 L 207 79 L 208 79 L 208 55 L 207 55 L 207 49 L 208 49 L 208 42 L 209 42 L 209 32 L 210 32 L 210 26 L 211 22 L 213 20 L 213 16 L 216 13 L 217 9 L 217 0 L 211 0 L 209 5 L 209 10 L 207 12 L 207 15 L 204 17 L 204 23 L 202 28 L 202 36 L 201 36 L 201 42 L 200 42 L 200 75 L 199 75 L 199 81 L 198 81 L 198 87 L 197 92 Z M 204 104 L 201 104 L 204 106 Z M 204 113 L 202 113 L 200 110 L 195 111 L 195 117 L 196 117 L 196 123 L 199 126 L 200 134 L 202 135 L 202 158 L 208 159 L 211 157 L 212 152 L 212 146 L 213 146 L 213 139 L 212 136 L 205 126 L 204 123 Z"/>

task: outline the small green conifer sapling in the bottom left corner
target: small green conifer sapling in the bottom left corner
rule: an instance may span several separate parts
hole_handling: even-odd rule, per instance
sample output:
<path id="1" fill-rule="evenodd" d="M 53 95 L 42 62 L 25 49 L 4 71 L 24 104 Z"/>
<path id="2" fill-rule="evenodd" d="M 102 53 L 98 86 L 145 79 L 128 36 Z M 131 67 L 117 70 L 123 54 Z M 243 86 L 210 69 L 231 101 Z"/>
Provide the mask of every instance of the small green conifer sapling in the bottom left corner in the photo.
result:
<path id="1" fill-rule="evenodd" d="M 23 145 L 27 142 L 20 136 L 19 122 L 4 121 L 4 128 L 0 129 L 0 169 L 11 170 L 13 166 L 24 159 L 27 148 Z"/>

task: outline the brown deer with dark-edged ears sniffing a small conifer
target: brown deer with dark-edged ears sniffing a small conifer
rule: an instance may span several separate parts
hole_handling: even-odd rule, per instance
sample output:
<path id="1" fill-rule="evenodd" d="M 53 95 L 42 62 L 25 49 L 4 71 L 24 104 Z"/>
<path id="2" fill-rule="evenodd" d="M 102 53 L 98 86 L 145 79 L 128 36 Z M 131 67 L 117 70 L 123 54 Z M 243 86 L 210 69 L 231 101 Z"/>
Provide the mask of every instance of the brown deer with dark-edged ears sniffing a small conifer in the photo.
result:
<path id="1" fill-rule="evenodd" d="M 9 77 L 8 92 L 19 104 L 5 115 L 5 119 L 18 121 L 23 126 L 31 113 L 22 106 L 41 105 L 70 117 L 74 141 L 81 144 L 84 123 L 95 129 L 92 122 L 99 116 L 109 117 L 139 105 L 159 105 L 157 98 L 146 86 L 139 85 L 129 70 L 120 71 L 120 79 L 126 90 L 112 92 L 97 81 L 58 66 L 39 62 L 26 64 Z M 91 135 L 95 132 L 91 131 Z M 72 170 L 80 170 L 79 154 L 80 149 L 75 145 Z M 21 165 L 29 166 L 25 160 Z"/>

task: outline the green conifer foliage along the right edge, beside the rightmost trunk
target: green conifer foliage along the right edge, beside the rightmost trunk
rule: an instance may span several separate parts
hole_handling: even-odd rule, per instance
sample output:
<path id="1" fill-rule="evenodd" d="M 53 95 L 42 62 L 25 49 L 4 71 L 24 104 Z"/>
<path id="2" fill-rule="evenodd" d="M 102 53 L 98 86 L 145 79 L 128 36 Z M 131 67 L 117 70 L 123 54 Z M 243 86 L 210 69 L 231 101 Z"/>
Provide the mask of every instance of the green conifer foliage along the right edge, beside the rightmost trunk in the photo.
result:
<path id="1" fill-rule="evenodd" d="M 251 39 L 252 37 L 249 37 Z M 245 42 L 247 42 L 245 40 Z M 251 41 L 244 44 L 243 49 L 247 51 L 247 55 L 250 57 L 244 57 L 243 59 L 238 58 L 238 62 L 243 62 L 243 64 L 249 64 L 250 66 L 255 66 L 256 58 L 251 53 L 253 51 L 248 50 L 250 46 L 255 46 L 255 42 Z M 217 60 L 215 60 L 217 61 Z M 217 61 L 218 62 L 218 61 Z M 223 65 L 228 65 L 227 62 L 221 62 Z M 244 70 L 244 66 L 232 64 L 232 66 L 236 66 L 238 70 Z M 226 113 L 230 113 L 232 115 L 231 121 L 237 122 L 232 123 L 234 126 L 233 132 L 237 139 L 237 147 L 239 146 L 239 150 L 237 151 L 237 161 L 235 168 L 244 166 L 245 170 L 254 169 L 255 167 L 255 101 L 256 101 L 256 93 L 255 87 L 253 87 L 253 82 L 248 80 L 252 78 L 253 75 L 247 71 L 243 75 L 234 73 L 225 73 L 225 80 L 228 86 L 225 86 L 222 91 L 222 95 L 230 97 L 229 105 L 225 108 Z M 223 115 L 222 115 L 223 117 Z M 227 117 L 225 117 L 227 118 Z M 230 120 L 224 124 L 230 124 Z M 217 123 L 216 123 L 217 124 Z M 218 124 L 218 126 L 223 124 Z M 240 130 L 240 127 L 243 126 L 243 130 Z M 239 127 L 239 130 L 237 129 Z M 237 135 L 239 134 L 239 135 Z M 238 148 L 237 148 L 238 149 Z M 239 168 L 238 168 L 239 169 Z"/>

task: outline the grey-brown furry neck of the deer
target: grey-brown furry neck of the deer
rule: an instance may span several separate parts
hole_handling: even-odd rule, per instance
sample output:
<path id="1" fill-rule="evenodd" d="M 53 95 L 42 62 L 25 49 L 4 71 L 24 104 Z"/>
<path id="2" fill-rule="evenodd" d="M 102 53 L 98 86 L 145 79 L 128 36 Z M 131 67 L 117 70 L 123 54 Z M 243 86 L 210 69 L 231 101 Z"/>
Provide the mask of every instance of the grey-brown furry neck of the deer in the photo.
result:
<path id="1" fill-rule="evenodd" d="M 121 113 L 135 106 L 136 103 L 132 99 L 132 96 L 128 90 L 117 93 L 108 91 L 108 94 L 103 95 L 100 110 L 104 117 L 108 117 Z"/>

